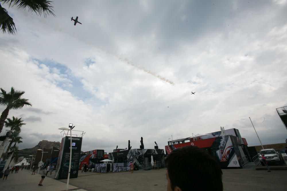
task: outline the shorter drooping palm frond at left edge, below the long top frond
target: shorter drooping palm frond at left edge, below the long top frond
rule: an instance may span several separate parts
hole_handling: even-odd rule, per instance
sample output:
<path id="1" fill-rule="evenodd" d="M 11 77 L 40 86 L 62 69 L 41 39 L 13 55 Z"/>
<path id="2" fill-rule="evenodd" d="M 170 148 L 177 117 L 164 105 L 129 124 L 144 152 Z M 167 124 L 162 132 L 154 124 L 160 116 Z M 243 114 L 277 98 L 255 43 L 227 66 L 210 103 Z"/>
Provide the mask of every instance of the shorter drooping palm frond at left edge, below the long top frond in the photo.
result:
<path id="1" fill-rule="evenodd" d="M 15 34 L 15 32 L 17 31 L 12 17 L 10 17 L 8 11 L 1 6 L 0 6 L 0 28 L 3 33 L 7 32 L 9 34 Z M 2 93 L 4 92 L 2 91 Z"/>

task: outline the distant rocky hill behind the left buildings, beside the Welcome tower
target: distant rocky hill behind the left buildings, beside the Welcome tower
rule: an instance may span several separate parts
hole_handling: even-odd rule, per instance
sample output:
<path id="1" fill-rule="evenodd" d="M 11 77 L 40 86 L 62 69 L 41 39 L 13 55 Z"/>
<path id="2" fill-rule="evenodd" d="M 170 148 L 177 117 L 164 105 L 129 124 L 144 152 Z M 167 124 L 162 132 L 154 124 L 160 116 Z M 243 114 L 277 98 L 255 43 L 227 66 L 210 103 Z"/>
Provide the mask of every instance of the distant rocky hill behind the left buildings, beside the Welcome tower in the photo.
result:
<path id="1" fill-rule="evenodd" d="M 47 148 L 48 149 L 48 148 L 52 148 L 52 147 L 60 148 L 60 145 L 61 145 L 60 142 L 55 142 L 55 141 L 52 142 L 52 141 L 42 140 L 33 148 L 20 150 L 18 153 L 18 156 L 19 157 L 21 157 L 21 156 L 27 157 L 27 156 L 32 155 L 32 154 L 36 155 L 37 149 L 40 149 L 40 148 Z"/>

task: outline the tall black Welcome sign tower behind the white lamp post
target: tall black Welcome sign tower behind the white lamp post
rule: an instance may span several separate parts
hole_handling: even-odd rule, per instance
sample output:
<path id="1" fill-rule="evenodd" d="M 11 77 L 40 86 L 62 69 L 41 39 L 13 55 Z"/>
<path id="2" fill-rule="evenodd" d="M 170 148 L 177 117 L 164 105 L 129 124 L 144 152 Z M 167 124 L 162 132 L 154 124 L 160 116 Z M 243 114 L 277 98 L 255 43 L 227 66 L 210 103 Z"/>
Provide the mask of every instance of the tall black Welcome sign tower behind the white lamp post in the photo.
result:
<path id="1" fill-rule="evenodd" d="M 69 174 L 70 162 L 70 137 L 64 137 L 61 142 L 59 157 L 56 167 L 55 178 L 67 179 Z M 82 147 L 82 137 L 72 137 L 72 157 L 70 178 L 78 177 L 80 153 Z"/>

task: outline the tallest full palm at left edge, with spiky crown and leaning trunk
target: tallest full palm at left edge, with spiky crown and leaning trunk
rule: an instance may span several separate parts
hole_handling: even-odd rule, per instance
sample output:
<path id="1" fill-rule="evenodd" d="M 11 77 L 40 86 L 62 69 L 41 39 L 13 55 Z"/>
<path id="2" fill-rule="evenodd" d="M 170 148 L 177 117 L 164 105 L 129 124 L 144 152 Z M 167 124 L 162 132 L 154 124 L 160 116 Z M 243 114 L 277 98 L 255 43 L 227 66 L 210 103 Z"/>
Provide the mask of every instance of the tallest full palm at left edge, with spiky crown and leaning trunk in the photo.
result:
<path id="1" fill-rule="evenodd" d="M 32 104 L 28 102 L 28 99 L 21 98 L 21 96 L 25 93 L 24 91 L 15 90 L 13 87 L 11 87 L 11 91 L 9 93 L 2 88 L 0 88 L 0 90 L 0 105 L 6 106 L 6 109 L 4 109 L 0 117 L 1 133 L 10 109 L 21 109 L 25 105 L 32 106 Z"/>

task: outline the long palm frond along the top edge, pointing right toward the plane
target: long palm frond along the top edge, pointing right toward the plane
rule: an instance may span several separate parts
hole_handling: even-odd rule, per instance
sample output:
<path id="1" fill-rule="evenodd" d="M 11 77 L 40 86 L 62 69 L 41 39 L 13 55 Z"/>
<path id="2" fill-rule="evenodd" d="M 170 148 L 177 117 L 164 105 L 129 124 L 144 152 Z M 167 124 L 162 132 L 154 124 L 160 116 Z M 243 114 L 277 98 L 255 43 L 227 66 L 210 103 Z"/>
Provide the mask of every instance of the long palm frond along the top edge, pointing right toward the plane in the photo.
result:
<path id="1" fill-rule="evenodd" d="M 29 8 L 29 11 L 35 12 L 37 15 L 44 14 L 46 15 L 53 15 L 54 10 L 53 6 L 51 5 L 52 1 L 47 0 L 1 0 L 3 3 L 9 3 L 9 7 L 12 5 L 17 5 L 19 9 L 26 9 Z"/>

